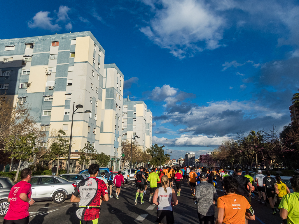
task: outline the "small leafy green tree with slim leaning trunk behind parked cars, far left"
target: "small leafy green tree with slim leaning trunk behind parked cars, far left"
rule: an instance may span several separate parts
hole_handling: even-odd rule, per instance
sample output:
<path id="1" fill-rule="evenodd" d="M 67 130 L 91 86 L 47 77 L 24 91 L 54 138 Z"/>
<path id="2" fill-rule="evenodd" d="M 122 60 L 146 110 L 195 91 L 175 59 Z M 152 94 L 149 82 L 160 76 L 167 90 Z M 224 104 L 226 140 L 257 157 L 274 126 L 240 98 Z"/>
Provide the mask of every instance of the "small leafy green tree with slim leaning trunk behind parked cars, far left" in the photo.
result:
<path id="1" fill-rule="evenodd" d="M 18 179 L 21 162 L 24 160 L 32 160 L 33 155 L 38 151 L 35 147 L 36 136 L 34 133 L 27 134 L 25 136 L 10 136 L 9 139 L 6 140 L 5 149 L 11 152 L 10 158 L 14 157 L 19 159 L 19 167 L 17 169 L 16 181 Z"/>

